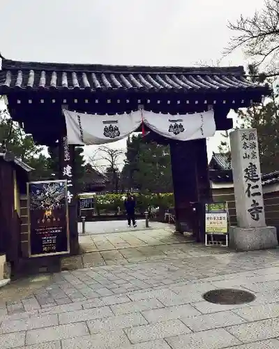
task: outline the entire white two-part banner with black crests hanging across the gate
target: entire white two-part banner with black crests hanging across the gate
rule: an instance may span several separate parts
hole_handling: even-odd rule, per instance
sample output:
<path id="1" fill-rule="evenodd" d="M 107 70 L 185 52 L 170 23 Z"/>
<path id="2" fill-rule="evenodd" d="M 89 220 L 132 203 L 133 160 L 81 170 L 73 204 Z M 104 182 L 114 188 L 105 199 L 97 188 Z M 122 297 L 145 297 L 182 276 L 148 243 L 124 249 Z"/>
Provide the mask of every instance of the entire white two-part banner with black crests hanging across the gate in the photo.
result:
<path id="1" fill-rule="evenodd" d="M 156 114 L 137 110 L 130 114 L 98 115 L 63 110 L 68 144 L 105 144 L 126 138 L 142 124 L 173 140 L 197 140 L 216 132 L 213 110 L 195 114 Z"/>

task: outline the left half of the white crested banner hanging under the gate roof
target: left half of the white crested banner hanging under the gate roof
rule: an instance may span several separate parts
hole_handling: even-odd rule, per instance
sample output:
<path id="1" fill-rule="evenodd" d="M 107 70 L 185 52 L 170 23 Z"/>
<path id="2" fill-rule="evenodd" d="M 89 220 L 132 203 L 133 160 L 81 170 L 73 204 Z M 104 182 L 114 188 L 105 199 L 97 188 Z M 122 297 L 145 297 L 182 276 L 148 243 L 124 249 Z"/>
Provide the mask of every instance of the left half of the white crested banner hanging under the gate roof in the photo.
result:
<path id="1" fill-rule="evenodd" d="M 130 114 L 98 115 L 63 109 L 68 144 L 105 144 L 126 138 L 142 124 L 140 110 Z"/>

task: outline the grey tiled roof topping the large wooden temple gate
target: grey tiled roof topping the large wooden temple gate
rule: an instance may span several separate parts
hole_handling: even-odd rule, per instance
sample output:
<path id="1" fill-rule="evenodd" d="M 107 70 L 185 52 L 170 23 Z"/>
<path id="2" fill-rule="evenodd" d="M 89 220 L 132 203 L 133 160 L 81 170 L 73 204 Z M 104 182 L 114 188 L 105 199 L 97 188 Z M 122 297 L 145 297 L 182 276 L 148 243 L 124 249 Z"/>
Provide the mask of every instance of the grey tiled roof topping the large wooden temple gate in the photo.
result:
<path id="1" fill-rule="evenodd" d="M 128 91 L 258 91 L 243 67 L 182 68 L 54 64 L 2 60 L 0 93 L 10 89 L 89 89 Z"/>

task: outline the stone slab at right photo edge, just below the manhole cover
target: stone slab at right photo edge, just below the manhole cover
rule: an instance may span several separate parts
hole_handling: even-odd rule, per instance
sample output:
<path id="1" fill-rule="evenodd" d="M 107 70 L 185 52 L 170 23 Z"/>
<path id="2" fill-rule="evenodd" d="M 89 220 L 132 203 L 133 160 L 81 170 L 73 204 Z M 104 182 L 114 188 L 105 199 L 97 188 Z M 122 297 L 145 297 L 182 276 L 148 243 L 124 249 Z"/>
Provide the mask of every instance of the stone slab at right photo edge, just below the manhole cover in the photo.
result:
<path id="1" fill-rule="evenodd" d="M 279 316 L 279 304 L 274 303 L 260 306 L 246 306 L 241 309 L 235 309 L 234 313 L 248 321 L 277 318 Z"/>

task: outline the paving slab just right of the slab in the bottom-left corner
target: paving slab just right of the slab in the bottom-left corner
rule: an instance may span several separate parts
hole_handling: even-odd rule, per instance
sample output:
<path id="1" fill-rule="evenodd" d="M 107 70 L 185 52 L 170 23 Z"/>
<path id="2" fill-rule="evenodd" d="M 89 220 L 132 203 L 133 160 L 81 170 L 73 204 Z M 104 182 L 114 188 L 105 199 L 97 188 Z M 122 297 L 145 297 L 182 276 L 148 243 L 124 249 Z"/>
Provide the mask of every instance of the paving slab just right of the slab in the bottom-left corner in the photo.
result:
<path id="1" fill-rule="evenodd" d="M 60 341 L 61 339 L 85 336 L 86 334 L 89 334 L 89 331 L 85 322 L 46 327 L 44 329 L 31 329 L 27 331 L 26 343 L 27 346 L 29 346 L 36 343 Z"/>

